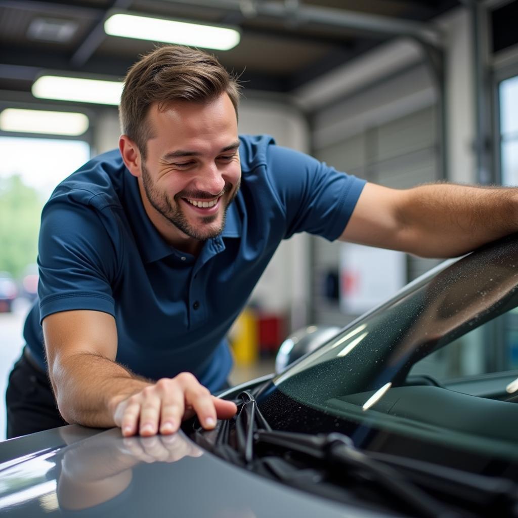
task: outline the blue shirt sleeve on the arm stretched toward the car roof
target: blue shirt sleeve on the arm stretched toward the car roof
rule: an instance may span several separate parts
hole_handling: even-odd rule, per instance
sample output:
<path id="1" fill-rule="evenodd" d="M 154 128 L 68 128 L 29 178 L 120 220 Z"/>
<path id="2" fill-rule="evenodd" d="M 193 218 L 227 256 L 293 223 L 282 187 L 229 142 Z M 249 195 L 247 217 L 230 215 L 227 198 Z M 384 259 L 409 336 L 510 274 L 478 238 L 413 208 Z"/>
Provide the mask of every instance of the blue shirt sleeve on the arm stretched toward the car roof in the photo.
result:
<path id="1" fill-rule="evenodd" d="M 286 238 L 309 232 L 330 241 L 346 227 L 365 180 L 280 146 L 267 151 L 269 181 L 287 220 Z"/>

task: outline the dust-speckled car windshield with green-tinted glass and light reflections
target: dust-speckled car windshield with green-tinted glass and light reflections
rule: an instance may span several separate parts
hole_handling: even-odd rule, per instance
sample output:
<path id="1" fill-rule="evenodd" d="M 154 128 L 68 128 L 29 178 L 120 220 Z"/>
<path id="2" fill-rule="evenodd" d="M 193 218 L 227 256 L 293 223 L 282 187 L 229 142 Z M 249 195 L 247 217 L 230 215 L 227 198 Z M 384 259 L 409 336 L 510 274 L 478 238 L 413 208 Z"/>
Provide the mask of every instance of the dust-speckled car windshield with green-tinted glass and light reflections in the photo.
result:
<path id="1" fill-rule="evenodd" d="M 273 383 L 364 428 L 518 459 L 518 405 L 502 401 L 518 394 L 518 371 L 488 374 L 477 359 L 493 347 L 485 328 L 518 319 L 517 306 L 512 236 L 431 270 Z"/>

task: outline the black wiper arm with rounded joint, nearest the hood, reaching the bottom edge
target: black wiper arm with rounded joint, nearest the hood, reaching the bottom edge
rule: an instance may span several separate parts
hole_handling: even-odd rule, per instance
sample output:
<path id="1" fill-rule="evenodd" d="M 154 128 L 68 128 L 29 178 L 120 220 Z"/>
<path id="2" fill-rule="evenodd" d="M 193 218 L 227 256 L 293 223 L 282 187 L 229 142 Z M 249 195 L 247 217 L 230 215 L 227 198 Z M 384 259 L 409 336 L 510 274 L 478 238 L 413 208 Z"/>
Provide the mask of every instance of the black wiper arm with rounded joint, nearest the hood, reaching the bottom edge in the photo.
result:
<path id="1" fill-rule="evenodd" d="M 397 496 L 423 518 L 460 516 L 443 506 L 419 487 L 403 479 L 395 469 L 373 461 L 357 450 L 352 440 L 343 434 L 307 435 L 286 431 L 258 430 L 254 434 L 254 438 L 256 445 L 266 444 L 284 451 L 308 455 L 337 467 L 366 472 L 369 478 Z"/>

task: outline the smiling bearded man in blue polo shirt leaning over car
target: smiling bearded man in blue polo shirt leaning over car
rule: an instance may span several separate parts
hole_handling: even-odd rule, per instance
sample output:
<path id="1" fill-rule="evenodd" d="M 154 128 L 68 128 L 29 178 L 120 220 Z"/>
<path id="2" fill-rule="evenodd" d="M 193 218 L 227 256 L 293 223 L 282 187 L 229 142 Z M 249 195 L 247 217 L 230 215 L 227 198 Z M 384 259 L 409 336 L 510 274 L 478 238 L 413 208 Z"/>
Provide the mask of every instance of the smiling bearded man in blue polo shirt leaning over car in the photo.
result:
<path id="1" fill-rule="evenodd" d="M 67 423 L 171 434 L 236 412 L 226 333 L 283 239 L 309 232 L 424 256 L 516 231 L 516 189 L 394 190 L 238 136 L 238 85 L 162 47 L 128 71 L 119 150 L 42 213 L 39 300 L 9 379 L 8 437 Z M 50 379 L 50 383 L 49 383 Z"/>

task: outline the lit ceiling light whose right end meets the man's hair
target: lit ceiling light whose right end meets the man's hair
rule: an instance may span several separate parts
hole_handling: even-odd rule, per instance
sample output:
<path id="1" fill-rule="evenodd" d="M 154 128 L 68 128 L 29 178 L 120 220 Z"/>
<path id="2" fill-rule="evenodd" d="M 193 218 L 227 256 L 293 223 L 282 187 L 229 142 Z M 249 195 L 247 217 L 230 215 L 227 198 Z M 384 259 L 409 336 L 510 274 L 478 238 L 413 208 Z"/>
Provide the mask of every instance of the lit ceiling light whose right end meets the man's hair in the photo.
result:
<path id="1" fill-rule="evenodd" d="M 122 81 L 41 76 L 34 82 L 32 93 L 43 99 L 118 105 L 122 87 Z"/>

